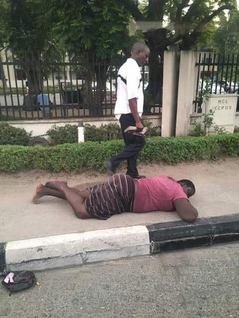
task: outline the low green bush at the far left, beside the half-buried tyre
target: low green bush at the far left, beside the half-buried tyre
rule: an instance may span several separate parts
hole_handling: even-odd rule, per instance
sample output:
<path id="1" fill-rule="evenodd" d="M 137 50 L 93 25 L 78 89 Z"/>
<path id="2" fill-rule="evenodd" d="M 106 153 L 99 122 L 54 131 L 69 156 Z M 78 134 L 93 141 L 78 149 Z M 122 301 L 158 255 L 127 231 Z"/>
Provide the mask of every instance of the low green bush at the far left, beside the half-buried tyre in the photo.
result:
<path id="1" fill-rule="evenodd" d="M 27 146 L 30 137 L 31 132 L 27 133 L 23 128 L 0 123 L 0 145 Z"/>

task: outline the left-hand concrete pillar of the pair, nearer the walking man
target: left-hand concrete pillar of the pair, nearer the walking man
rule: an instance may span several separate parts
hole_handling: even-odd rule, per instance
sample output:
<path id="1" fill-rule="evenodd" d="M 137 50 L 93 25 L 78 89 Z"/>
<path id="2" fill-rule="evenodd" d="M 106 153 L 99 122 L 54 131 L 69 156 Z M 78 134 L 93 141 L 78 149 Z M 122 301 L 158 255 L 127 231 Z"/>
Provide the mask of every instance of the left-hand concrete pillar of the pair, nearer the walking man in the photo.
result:
<path id="1" fill-rule="evenodd" d="M 163 60 L 163 107 L 161 136 L 175 135 L 178 77 L 179 77 L 179 51 L 165 51 Z"/>

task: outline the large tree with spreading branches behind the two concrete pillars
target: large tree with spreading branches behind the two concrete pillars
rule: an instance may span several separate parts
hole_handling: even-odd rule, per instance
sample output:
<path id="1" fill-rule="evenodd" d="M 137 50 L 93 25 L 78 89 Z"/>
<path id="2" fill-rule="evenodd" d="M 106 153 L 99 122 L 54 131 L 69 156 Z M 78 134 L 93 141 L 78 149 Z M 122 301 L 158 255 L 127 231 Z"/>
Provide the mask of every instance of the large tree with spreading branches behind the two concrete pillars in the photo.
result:
<path id="1" fill-rule="evenodd" d="M 211 29 L 214 27 L 215 17 L 225 9 L 233 9 L 235 5 L 235 0 L 148 0 L 146 6 L 141 5 L 139 8 L 134 0 L 116 1 L 136 21 L 151 21 L 152 26 L 157 22 L 156 28 L 144 30 L 145 40 L 151 50 L 147 87 L 151 95 L 162 79 L 162 71 L 157 68 L 158 57 L 163 59 L 164 51 L 176 43 L 179 43 L 181 50 L 191 50 L 203 42 L 205 32 L 206 37 L 210 35 L 208 26 Z M 169 22 L 168 27 L 163 27 L 165 21 Z"/>

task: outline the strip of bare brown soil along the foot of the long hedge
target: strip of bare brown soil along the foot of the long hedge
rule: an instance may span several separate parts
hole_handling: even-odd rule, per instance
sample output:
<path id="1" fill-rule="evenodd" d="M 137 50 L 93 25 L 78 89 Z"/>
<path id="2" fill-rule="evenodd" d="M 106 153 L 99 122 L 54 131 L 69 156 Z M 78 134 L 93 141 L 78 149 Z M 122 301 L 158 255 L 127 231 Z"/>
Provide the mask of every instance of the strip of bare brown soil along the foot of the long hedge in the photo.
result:
<path id="1" fill-rule="evenodd" d="M 138 170 L 140 174 L 144 174 L 147 177 L 156 175 L 171 175 L 175 178 L 192 178 L 204 171 L 205 173 L 220 173 L 228 171 L 232 173 L 234 169 L 239 168 L 239 158 L 226 158 L 219 159 L 217 161 L 202 160 L 202 161 L 189 161 L 183 162 L 177 165 L 169 165 L 164 162 L 152 163 L 152 164 L 140 164 Z M 125 172 L 125 166 L 118 170 L 119 173 Z M 191 177 L 190 177 L 191 176 Z M 96 171 L 85 171 L 81 174 L 73 174 L 68 172 L 47 172 L 40 169 L 19 171 L 14 173 L 0 172 L 1 183 L 5 186 L 21 186 L 29 184 L 44 183 L 49 179 L 65 179 L 68 183 L 73 185 L 79 185 L 82 187 L 91 186 L 98 182 L 102 182 L 108 178 L 106 173 L 99 173 Z"/>

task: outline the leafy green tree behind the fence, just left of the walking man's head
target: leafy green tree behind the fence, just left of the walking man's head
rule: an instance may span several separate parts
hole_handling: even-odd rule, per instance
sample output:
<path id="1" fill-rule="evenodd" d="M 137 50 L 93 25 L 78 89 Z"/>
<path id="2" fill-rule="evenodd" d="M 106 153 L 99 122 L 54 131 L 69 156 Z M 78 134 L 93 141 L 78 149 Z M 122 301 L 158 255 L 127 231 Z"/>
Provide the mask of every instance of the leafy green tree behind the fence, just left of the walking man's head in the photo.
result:
<path id="1" fill-rule="evenodd" d="M 114 0 L 47 0 L 47 5 L 56 37 L 67 48 L 71 59 L 85 64 L 81 72 L 84 101 L 89 103 L 91 116 L 99 116 L 110 62 L 119 51 L 131 45 L 127 28 L 130 15 Z"/>

